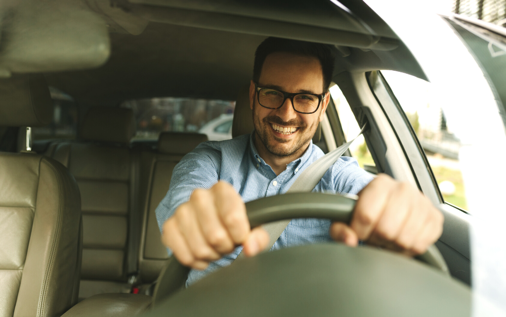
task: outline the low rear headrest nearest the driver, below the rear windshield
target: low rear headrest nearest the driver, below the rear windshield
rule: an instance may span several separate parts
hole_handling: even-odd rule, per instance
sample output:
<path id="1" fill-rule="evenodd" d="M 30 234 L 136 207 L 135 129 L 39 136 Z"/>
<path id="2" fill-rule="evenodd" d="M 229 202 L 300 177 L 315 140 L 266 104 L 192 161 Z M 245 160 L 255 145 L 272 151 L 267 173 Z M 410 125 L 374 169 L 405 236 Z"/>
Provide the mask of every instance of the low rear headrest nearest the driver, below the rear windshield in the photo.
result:
<path id="1" fill-rule="evenodd" d="M 207 135 L 186 132 L 161 132 L 158 137 L 158 152 L 185 155 L 197 145 L 207 141 Z"/>

